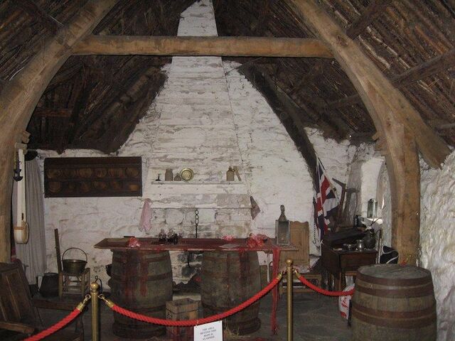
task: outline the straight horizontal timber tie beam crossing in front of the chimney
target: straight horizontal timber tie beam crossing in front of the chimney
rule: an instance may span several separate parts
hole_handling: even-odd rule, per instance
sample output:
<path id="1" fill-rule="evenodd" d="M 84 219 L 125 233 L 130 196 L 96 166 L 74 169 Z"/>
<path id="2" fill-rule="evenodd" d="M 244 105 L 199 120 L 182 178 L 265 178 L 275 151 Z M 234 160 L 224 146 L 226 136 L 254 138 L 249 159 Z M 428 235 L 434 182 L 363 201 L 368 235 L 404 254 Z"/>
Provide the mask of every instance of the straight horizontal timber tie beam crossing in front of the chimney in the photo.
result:
<path id="1" fill-rule="evenodd" d="M 318 39 L 269 37 L 89 36 L 73 54 L 333 58 Z"/>

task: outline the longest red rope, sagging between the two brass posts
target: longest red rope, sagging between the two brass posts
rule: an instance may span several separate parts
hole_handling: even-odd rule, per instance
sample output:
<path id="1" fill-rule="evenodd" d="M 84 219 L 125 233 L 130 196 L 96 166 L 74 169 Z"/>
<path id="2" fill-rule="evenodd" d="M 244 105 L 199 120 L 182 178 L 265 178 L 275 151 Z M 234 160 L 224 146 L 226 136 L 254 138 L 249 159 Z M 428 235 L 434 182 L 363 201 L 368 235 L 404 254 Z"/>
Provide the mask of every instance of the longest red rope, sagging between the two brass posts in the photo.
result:
<path id="1" fill-rule="evenodd" d="M 109 308 L 112 310 L 116 311 L 119 314 L 125 315 L 129 318 L 134 318 L 136 320 L 146 322 L 146 323 L 154 323 L 155 325 L 166 325 L 166 326 L 171 326 L 171 327 L 192 327 L 193 325 L 203 325 L 204 323 L 210 323 L 218 320 L 223 320 L 223 318 L 227 318 L 230 315 L 233 315 L 235 313 L 238 313 L 240 310 L 243 310 L 247 308 L 248 305 L 252 305 L 252 303 L 255 303 L 256 301 L 259 300 L 259 298 L 262 298 L 266 293 L 272 290 L 274 286 L 277 286 L 279 281 L 281 280 L 281 276 L 278 276 L 277 278 L 274 278 L 273 281 L 271 281 L 265 288 L 263 288 L 259 293 L 257 293 L 255 296 L 252 296 L 252 298 L 249 298 L 247 301 L 241 303 L 240 305 L 237 305 L 235 308 L 231 308 L 228 311 L 225 311 L 224 313 L 216 314 L 209 316 L 208 318 L 201 318 L 198 320 L 164 320 L 161 318 L 151 318 L 150 316 L 142 315 L 139 313 L 134 313 L 131 310 L 127 310 L 124 308 L 119 307 L 115 303 L 112 303 L 112 301 L 105 300 L 107 305 L 109 305 Z"/>

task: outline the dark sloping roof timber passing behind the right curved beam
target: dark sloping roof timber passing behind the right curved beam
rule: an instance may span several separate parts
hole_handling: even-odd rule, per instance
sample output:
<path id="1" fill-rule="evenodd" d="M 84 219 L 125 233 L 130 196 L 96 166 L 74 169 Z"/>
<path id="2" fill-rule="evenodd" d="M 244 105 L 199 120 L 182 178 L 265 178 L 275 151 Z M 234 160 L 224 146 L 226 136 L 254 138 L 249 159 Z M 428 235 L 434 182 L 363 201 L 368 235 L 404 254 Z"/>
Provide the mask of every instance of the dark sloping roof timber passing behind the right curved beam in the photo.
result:
<path id="1" fill-rule="evenodd" d="M 409 70 L 403 72 L 392 78 L 392 84 L 401 89 L 410 85 L 412 82 L 423 80 L 424 78 L 436 75 L 439 72 L 444 72 L 451 67 L 455 67 L 455 48 L 449 50 L 443 55 L 438 55 L 426 62 L 411 67 Z M 359 94 L 338 99 L 333 102 L 327 103 L 328 109 L 336 109 L 341 107 L 349 107 L 354 104 L 362 102 Z"/>

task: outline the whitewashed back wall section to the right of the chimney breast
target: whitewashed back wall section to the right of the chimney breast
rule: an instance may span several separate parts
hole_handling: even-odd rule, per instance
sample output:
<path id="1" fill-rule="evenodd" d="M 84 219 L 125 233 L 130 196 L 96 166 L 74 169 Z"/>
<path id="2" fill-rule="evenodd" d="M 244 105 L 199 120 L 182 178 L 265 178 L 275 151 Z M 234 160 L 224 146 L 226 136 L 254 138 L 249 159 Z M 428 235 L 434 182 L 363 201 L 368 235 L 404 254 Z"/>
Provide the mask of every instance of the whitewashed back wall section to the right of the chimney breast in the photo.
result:
<path id="1" fill-rule="evenodd" d="M 314 189 L 304 158 L 262 94 L 235 70 L 239 66 L 224 63 L 248 188 L 262 210 L 252 222 L 252 231 L 273 236 L 281 204 L 289 220 L 309 222 L 314 229 Z M 346 182 L 348 141 L 338 144 L 316 129 L 306 131 L 328 174 Z M 313 243 L 310 252 L 317 253 Z"/>

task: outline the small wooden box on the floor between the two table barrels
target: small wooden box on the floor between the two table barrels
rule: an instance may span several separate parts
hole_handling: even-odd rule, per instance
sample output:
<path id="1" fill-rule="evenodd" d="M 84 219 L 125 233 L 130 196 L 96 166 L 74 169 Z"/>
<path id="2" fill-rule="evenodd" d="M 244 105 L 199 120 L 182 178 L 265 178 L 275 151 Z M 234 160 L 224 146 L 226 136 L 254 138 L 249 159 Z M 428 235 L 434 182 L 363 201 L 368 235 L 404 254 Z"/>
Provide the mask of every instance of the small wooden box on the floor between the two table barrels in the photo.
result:
<path id="1" fill-rule="evenodd" d="M 198 301 L 182 298 L 166 302 L 166 320 L 196 320 L 199 318 Z M 166 336 L 172 341 L 193 341 L 193 327 L 166 327 Z"/>

